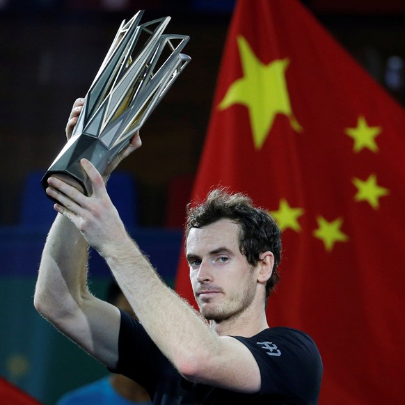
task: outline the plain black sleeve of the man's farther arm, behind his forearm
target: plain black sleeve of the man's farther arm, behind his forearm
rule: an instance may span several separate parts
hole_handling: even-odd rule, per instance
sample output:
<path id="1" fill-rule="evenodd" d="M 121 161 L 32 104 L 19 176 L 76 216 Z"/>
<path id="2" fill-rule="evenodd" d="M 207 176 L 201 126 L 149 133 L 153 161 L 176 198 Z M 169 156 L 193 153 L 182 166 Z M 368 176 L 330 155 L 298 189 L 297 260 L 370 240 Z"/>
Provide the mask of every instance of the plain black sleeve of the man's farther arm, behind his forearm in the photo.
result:
<path id="1" fill-rule="evenodd" d="M 157 381 L 157 365 L 162 360 L 161 351 L 150 339 L 142 324 L 127 312 L 120 310 L 118 337 L 118 363 L 111 372 L 123 374 L 152 392 Z"/>

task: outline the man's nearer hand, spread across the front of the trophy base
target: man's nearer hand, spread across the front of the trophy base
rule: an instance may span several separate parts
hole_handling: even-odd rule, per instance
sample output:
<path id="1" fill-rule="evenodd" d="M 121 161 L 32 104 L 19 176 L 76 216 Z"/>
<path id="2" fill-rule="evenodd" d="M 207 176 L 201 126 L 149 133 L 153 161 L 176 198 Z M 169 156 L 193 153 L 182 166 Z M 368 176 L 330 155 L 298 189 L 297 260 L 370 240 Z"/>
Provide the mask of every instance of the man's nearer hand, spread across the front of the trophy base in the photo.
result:
<path id="1" fill-rule="evenodd" d="M 109 198 L 102 175 L 87 159 L 81 159 L 81 166 L 92 183 L 92 196 L 84 196 L 73 186 L 52 176 L 48 179 L 46 191 L 61 202 L 54 205 L 56 211 L 70 219 L 88 244 L 105 257 L 110 249 L 122 248 L 130 239 Z"/>

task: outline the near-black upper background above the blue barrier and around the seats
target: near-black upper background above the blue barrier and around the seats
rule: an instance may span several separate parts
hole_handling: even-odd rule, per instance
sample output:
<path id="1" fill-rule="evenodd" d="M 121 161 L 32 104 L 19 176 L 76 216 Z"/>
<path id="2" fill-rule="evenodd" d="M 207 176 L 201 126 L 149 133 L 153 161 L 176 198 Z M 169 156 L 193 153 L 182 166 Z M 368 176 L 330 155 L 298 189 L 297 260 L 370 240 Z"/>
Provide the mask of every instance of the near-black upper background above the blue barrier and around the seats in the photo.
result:
<path id="1" fill-rule="evenodd" d="M 166 32 L 191 37 L 185 53 L 192 62 L 143 127 L 142 149 L 120 166 L 138 184 L 140 225 L 167 224 L 170 184 L 177 177 L 191 184 L 198 167 L 234 3 L 0 1 L 0 223 L 19 223 L 27 174 L 45 171 L 61 150 L 72 102 L 86 95 L 122 19 L 143 8 L 143 21 L 170 15 Z M 402 58 L 393 60 L 398 64 L 405 54 L 405 1 L 304 3 L 387 86 L 390 57 Z M 388 90 L 403 103 L 402 70 Z"/>

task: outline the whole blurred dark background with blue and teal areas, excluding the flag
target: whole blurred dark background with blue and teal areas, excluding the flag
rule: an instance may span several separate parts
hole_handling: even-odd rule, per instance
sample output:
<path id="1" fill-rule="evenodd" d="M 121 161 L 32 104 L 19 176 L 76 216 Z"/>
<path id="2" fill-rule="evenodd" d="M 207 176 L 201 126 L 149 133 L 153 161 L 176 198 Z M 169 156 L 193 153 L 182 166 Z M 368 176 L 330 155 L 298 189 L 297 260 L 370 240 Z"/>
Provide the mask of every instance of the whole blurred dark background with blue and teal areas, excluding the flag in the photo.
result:
<path id="1" fill-rule="evenodd" d="M 405 1 L 303 3 L 404 105 Z M 191 63 L 144 125 L 143 147 L 123 162 L 120 179 L 111 184 L 117 204 L 125 204 L 120 196 L 125 190 L 122 215 L 130 232 L 173 285 L 184 205 L 198 168 L 234 4 L 0 0 L 0 375 L 44 404 L 106 374 L 41 319 L 32 304 L 54 216 L 39 180 L 65 144 L 72 103 L 86 95 L 120 22 L 136 11 L 145 10 L 143 22 L 170 15 L 166 32 L 190 36 L 185 53 Z M 91 260 L 91 288 L 103 297 L 109 273 L 96 254 Z"/>

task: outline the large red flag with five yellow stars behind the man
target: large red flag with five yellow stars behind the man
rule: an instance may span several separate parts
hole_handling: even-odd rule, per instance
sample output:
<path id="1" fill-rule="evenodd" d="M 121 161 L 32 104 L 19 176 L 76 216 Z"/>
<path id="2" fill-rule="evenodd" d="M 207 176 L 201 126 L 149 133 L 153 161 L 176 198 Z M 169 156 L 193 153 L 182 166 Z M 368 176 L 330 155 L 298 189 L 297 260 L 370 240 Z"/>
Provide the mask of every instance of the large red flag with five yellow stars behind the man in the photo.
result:
<path id="1" fill-rule="evenodd" d="M 283 230 L 267 310 L 317 342 L 320 403 L 398 404 L 405 113 L 299 1 L 239 0 L 193 200 L 248 193 Z M 184 258 L 177 291 L 193 302 Z"/>

